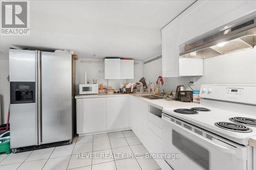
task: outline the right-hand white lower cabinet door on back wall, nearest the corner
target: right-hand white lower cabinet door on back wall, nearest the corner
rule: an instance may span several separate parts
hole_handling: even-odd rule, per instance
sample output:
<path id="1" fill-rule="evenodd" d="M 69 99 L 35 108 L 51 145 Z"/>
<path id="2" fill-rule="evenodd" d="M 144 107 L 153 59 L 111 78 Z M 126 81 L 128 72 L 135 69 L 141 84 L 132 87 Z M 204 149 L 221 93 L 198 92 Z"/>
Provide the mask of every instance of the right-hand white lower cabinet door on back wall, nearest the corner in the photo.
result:
<path id="1" fill-rule="evenodd" d="M 129 96 L 106 98 L 106 130 L 131 127 Z"/>

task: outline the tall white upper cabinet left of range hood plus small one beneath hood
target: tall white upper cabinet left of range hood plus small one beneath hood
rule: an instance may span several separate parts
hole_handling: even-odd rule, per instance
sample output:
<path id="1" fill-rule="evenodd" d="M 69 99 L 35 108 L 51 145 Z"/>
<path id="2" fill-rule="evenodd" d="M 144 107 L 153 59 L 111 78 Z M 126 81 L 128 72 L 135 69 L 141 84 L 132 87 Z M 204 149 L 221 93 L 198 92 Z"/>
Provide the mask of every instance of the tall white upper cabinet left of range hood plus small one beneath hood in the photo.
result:
<path id="1" fill-rule="evenodd" d="M 163 77 L 202 76 L 203 60 L 180 58 L 179 20 L 176 18 L 162 29 L 162 74 Z"/>

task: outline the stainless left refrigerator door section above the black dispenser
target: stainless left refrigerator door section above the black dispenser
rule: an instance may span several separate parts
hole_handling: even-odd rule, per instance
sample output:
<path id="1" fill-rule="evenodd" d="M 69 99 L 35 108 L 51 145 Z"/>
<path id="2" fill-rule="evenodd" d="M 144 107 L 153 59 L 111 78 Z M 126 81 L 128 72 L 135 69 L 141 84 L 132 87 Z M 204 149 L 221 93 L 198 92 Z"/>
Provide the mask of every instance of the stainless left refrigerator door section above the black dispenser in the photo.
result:
<path id="1" fill-rule="evenodd" d="M 35 54 L 35 51 L 10 49 L 10 82 L 35 81 Z"/>

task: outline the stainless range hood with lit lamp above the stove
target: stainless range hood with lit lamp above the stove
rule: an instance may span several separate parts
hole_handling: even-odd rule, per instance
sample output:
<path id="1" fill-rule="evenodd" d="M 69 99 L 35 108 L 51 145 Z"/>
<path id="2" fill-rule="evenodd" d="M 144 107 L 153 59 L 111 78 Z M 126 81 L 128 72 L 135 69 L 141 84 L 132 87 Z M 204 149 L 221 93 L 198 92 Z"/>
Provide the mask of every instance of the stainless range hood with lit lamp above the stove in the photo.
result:
<path id="1" fill-rule="evenodd" d="M 180 57 L 205 59 L 246 50 L 255 45 L 256 18 L 180 46 L 184 46 Z"/>

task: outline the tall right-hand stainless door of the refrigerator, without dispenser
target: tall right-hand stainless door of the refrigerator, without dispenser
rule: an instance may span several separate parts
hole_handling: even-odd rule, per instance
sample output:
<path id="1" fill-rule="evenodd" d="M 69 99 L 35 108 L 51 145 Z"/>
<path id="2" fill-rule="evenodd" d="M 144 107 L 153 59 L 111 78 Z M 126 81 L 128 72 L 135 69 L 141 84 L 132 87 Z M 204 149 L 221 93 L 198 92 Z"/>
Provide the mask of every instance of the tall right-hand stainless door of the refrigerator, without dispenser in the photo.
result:
<path id="1" fill-rule="evenodd" d="M 72 139 L 71 54 L 41 52 L 41 144 Z"/>

